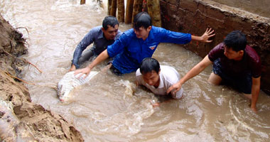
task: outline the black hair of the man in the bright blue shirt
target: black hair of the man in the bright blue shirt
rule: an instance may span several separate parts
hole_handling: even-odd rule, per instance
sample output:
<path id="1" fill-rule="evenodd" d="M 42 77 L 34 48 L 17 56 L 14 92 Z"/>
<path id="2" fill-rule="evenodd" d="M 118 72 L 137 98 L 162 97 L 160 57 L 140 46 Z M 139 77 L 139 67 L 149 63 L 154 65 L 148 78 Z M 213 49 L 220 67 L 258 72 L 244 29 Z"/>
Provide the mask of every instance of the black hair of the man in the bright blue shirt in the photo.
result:
<path id="1" fill-rule="evenodd" d="M 144 27 L 145 29 L 152 26 L 151 17 L 146 12 L 137 13 L 134 17 L 133 27 L 136 31 L 139 28 Z"/>

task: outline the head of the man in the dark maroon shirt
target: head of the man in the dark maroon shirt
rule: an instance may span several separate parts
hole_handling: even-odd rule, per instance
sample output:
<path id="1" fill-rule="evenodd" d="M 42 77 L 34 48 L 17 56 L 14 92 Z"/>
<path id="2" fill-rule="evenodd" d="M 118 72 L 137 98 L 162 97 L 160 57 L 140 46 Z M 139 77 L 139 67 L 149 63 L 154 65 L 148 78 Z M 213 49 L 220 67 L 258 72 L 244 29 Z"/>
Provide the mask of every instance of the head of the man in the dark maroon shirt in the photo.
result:
<path id="1" fill-rule="evenodd" d="M 244 33 L 232 31 L 223 40 L 225 44 L 224 55 L 232 60 L 241 60 L 244 55 L 244 49 L 247 45 L 247 39 Z"/>

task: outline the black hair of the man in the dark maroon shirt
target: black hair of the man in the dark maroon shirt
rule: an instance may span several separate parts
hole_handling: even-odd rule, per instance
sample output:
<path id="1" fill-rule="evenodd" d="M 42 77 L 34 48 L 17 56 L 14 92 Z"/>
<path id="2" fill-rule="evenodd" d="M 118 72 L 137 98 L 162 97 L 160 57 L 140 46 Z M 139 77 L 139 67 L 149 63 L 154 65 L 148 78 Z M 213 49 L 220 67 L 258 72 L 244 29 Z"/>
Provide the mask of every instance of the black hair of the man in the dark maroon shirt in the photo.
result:
<path id="1" fill-rule="evenodd" d="M 244 50 L 247 45 L 247 38 L 241 31 L 232 31 L 223 40 L 227 48 L 232 48 L 234 51 Z"/>

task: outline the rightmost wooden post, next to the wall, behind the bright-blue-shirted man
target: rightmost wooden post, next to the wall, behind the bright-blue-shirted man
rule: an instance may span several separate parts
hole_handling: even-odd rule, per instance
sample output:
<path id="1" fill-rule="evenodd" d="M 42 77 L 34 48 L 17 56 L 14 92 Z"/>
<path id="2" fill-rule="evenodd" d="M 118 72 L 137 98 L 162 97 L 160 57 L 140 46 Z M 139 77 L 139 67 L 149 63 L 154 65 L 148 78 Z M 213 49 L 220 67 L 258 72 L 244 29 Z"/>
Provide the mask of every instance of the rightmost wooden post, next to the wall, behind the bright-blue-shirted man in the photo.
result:
<path id="1" fill-rule="evenodd" d="M 159 0 L 148 0 L 147 9 L 153 26 L 161 27 L 161 6 L 159 5 Z"/>

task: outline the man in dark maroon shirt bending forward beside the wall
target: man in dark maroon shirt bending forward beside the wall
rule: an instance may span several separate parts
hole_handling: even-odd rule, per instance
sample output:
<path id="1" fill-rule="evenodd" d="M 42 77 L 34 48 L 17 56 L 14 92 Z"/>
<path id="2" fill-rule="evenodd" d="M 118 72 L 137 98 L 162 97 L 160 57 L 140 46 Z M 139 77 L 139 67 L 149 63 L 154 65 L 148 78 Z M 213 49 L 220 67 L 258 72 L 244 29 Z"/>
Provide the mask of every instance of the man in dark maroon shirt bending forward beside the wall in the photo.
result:
<path id="1" fill-rule="evenodd" d="M 240 31 L 229 33 L 223 43 L 213 48 L 206 57 L 191 69 L 179 82 L 167 91 L 176 89 L 190 78 L 198 75 L 213 63 L 213 70 L 208 79 L 212 84 L 227 82 L 252 100 L 251 109 L 257 112 L 256 103 L 259 96 L 261 80 L 261 59 L 256 51 L 247 45 L 247 39 Z"/>

